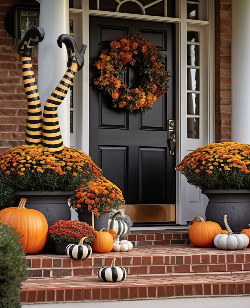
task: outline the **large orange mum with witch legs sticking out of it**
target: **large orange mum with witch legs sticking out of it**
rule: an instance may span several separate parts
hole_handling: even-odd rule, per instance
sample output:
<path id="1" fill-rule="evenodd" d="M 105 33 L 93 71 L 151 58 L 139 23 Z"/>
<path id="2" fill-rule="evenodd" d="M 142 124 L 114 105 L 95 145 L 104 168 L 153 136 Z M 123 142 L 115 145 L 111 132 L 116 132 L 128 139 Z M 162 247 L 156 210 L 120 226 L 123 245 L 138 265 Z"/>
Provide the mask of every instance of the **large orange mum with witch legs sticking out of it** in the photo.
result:
<path id="1" fill-rule="evenodd" d="M 64 147 L 47 152 L 42 145 L 22 145 L 0 155 L 0 183 L 17 190 L 76 190 L 102 175 L 83 152 Z"/>

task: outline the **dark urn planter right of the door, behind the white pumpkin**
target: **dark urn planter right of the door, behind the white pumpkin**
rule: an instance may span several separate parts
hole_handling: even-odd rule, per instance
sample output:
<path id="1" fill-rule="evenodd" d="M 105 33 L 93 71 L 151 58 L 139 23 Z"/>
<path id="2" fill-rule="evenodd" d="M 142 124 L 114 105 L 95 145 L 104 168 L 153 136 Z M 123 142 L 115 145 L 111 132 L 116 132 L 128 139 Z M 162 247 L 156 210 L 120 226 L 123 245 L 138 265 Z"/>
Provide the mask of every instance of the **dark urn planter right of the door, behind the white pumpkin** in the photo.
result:
<path id="1" fill-rule="evenodd" d="M 209 201 L 206 207 L 206 220 L 217 222 L 226 229 L 223 215 L 234 233 L 248 229 L 250 224 L 250 190 L 248 189 L 206 189 L 202 190 Z"/>

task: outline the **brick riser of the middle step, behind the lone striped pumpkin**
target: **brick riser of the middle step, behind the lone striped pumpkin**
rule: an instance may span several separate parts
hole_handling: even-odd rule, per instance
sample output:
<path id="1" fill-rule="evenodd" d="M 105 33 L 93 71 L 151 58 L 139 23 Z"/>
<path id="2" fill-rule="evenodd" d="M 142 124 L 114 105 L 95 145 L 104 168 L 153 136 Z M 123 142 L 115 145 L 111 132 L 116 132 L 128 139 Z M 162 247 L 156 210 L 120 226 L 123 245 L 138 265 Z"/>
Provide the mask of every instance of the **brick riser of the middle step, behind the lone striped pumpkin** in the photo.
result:
<path id="1" fill-rule="evenodd" d="M 27 278 L 96 276 L 102 266 L 110 266 L 111 257 L 26 258 Z M 250 270 L 250 254 L 117 257 L 116 265 L 123 266 L 128 275 L 171 273 L 211 273 Z"/>

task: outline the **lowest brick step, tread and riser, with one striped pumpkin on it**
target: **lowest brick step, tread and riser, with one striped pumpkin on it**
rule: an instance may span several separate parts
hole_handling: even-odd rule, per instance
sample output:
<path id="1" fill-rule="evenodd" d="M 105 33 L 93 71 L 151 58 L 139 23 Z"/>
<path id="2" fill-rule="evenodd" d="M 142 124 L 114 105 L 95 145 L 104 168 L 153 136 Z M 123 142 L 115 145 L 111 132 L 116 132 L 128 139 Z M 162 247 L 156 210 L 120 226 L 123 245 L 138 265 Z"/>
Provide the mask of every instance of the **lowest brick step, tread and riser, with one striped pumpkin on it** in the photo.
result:
<path id="1" fill-rule="evenodd" d="M 249 286 L 250 273 L 128 277 L 118 283 L 102 282 L 97 278 L 40 278 L 23 283 L 21 302 L 250 295 Z"/>

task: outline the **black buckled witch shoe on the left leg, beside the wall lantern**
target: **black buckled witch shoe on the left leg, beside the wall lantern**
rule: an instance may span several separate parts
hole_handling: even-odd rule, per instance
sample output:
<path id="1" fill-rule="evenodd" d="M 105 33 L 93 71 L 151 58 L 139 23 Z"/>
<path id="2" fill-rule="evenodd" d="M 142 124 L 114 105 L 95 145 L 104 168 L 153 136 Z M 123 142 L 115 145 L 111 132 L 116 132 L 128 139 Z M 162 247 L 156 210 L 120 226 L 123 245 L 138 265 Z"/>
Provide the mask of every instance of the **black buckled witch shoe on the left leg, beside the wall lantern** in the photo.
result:
<path id="1" fill-rule="evenodd" d="M 44 39 L 44 29 L 40 27 L 29 28 L 22 39 L 17 44 L 17 52 L 22 57 L 31 57 L 33 48 L 37 46 L 38 42 Z"/>

